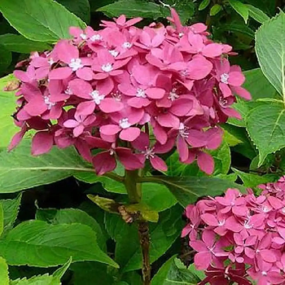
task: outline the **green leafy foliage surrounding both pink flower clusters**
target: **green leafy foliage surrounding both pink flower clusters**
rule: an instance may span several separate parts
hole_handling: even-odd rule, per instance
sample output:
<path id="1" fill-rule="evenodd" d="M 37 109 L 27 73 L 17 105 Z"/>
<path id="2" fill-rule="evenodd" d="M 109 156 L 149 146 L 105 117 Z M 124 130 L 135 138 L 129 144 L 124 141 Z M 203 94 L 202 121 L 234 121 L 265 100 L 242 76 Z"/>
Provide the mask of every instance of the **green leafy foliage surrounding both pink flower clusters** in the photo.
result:
<path id="1" fill-rule="evenodd" d="M 17 62 L 26 59 L 29 52 L 46 50 L 58 38 L 68 36 L 66 27 L 84 26 L 85 22 L 99 28 L 102 19 L 121 14 L 144 17 L 142 26 L 153 20 L 166 24 L 169 15 L 166 5 L 175 5 L 184 24 L 205 22 L 215 41 L 234 47 L 239 55 L 230 61 L 242 67 L 247 78 L 244 87 L 251 92 L 253 100 L 237 99 L 235 108 L 243 120 L 230 119 L 222 126 L 224 142 L 212 152 L 215 159 L 212 176 L 221 180 L 204 177 L 195 163 L 180 164 L 174 152 L 166 158 L 169 169 L 165 174 L 186 179 L 182 179 L 185 183 L 182 181 L 180 192 L 172 193 L 163 184 L 143 184 L 143 202 L 151 211 L 159 213 L 158 223 L 150 224 L 152 284 L 170 285 L 177 281 L 197 284 L 202 278 L 193 266 L 184 265 L 192 263 L 193 253 L 187 241 L 180 238 L 183 206 L 206 194 L 221 194 L 233 185 L 256 189 L 258 184 L 284 175 L 282 27 L 285 16 L 280 14 L 273 24 L 267 22 L 279 8 L 284 9 L 284 1 L 165 0 L 162 4 L 143 0 L 1 0 L 0 256 L 6 261 L 0 259 L 0 276 L 7 275 L 8 264 L 10 281 L 8 277 L 3 277 L 4 281 L 0 278 L 0 285 L 38 284 L 37 278 L 43 284 L 59 284 L 59 278 L 70 265 L 70 256 L 73 262 L 80 262 L 70 265 L 62 284 L 141 284 L 137 228 L 126 224 L 119 215 L 104 213 L 87 198 L 87 194 L 93 194 L 124 202 L 123 184 L 96 177 L 74 149 L 54 149 L 50 154 L 33 158 L 27 137 L 19 148 L 8 154 L 7 145 L 17 131 L 11 117 L 15 97 L 13 91 L 4 92 L 3 88 L 13 80 L 9 74 Z M 277 48 L 269 47 L 272 42 Z M 262 56 L 257 58 L 255 51 Z M 278 81 L 280 77 L 282 82 Z M 116 173 L 124 175 L 121 166 Z M 203 179 L 198 184 L 201 176 Z M 19 194 L 21 190 L 24 191 Z M 44 233 L 45 241 L 38 236 L 39 232 Z M 176 259 L 177 255 L 184 264 Z M 58 268 L 55 266 L 65 263 L 61 271 L 53 274 Z M 35 275 L 42 276 L 29 281 L 11 281 Z"/>

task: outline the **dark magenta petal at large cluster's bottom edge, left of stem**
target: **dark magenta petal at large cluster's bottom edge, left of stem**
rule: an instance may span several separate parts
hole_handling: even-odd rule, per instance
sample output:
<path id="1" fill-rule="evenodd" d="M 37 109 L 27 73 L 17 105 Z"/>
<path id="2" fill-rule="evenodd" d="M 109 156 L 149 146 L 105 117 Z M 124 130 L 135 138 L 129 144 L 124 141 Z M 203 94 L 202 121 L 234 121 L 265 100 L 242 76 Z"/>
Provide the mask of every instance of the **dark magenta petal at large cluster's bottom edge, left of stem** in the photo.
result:
<path id="1" fill-rule="evenodd" d="M 92 158 L 92 163 L 97 175 L 103 175 L 107 172 L 113 171 L 116 168 L 116 159 L 110 155 L 109 151 L 103 151 L 96 154 Z"/>

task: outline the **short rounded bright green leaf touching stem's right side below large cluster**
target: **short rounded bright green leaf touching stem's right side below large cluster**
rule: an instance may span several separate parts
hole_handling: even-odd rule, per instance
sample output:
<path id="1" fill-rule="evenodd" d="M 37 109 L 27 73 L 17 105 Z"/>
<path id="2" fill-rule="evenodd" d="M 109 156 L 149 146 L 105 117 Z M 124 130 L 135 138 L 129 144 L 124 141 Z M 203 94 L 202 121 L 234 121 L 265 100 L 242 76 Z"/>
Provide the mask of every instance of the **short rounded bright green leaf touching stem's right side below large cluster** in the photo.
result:
<path id="1" fill-rule="evenodd" d="M 176 198 L 164 185 L 143 183 L 142 202 L 155 211 L 164 211 L 177 203 Z"/>

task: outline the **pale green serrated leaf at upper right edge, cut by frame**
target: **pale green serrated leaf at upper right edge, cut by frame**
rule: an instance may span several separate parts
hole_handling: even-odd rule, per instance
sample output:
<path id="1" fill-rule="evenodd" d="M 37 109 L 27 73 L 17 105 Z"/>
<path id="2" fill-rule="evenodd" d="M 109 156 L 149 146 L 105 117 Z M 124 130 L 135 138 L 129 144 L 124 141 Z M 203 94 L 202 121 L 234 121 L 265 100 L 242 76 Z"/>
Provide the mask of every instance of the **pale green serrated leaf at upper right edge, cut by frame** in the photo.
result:
<path id="1" fill-rule="evenodd" d="M 280 95 L 285 98 L 285 14 L 264 23 L 255 34 L 255 51 L 262 72 Z"/>

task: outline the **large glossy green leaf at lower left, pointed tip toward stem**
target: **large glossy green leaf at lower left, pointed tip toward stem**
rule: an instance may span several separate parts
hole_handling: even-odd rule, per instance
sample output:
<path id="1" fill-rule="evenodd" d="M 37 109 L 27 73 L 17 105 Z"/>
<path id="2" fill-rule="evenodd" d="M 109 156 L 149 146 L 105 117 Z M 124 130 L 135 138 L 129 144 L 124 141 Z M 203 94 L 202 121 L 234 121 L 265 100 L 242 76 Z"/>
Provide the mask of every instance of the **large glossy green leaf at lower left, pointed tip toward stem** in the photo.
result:
<path id="1" fill-rule="evenodd" d="M 93 260 L 117 267 L 99 248 L 96 233 L 79 223 L 25 221 L 0 240 L 0 252 L 10 265 L 57 266 L 72 256 L 74 262 Z"/>

